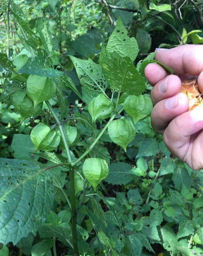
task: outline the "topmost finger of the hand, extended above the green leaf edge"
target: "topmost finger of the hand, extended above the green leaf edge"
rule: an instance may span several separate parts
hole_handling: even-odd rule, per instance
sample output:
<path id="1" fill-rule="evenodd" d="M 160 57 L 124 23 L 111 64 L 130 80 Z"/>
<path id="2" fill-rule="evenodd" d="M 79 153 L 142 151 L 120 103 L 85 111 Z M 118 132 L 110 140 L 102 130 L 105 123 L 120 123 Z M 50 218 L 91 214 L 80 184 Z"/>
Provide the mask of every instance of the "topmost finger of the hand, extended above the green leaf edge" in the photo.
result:
<path id="1" fill-rule="evenodd" d="M 197 76 L 203 70 L 203 45 L 181 45 L 172 49 L 156 49 L 155 60 L 174 73 Z"/>

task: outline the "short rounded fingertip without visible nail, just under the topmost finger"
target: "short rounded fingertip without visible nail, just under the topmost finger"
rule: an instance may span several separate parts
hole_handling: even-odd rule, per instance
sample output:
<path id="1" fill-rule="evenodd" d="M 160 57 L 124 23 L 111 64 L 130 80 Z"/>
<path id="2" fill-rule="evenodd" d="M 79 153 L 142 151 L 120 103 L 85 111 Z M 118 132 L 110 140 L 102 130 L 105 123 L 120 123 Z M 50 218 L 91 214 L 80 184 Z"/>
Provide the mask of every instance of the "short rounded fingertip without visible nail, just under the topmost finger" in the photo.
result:
<path id="1" fill-rule="evenodd" d="M 144 69 L 145 76 L 151 85 L 157 84 L 160 80 L 168 76 L 168 72 L 156 63 L 150 63 Z"/>

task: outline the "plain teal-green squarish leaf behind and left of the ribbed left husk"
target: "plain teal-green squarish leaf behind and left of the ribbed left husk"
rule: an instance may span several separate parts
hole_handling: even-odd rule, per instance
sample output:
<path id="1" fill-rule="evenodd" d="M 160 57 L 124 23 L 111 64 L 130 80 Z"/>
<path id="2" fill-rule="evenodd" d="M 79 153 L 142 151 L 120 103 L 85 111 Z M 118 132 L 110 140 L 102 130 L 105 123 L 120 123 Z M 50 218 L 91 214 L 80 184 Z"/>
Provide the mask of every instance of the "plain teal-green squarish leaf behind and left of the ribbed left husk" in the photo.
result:
<path id="1" fill-rule="evenodd" d="M 16 159 L 28 161 L 37 161 L 39 159 L 39 156 L 34 156 L 30 153 L 35 150 L 30 135 L 14 134 L 11 147 L 14 150 L 14 157 Z"/>

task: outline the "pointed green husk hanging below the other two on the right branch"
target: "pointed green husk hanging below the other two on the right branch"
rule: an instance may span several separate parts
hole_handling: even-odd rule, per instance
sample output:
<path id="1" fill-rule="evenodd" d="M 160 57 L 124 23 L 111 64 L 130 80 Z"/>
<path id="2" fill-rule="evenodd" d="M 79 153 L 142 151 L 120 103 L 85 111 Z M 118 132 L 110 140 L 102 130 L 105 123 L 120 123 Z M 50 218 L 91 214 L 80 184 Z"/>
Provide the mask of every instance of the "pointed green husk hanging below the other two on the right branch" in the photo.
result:
<path id="1" fill-rule="evenodd" d="M 135 127 L 130 119 L 117 119 L 110 121 L 108 133 L 110 139 L 126 152 L 127 145 L 135 138 Z"/>

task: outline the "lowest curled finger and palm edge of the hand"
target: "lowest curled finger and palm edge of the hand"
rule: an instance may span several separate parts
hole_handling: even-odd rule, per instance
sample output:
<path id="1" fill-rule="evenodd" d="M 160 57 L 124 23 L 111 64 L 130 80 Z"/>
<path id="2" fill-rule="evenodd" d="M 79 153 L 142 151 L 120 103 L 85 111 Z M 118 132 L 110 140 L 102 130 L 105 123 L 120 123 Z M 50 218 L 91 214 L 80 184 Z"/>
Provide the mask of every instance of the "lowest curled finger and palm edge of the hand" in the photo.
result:
<path id="1" fill-rule="evenodd" d="M 190 163 L 191 168 L 202 168 L 203 106 L 174 118 L 163 133 L 168 149 L 180 160 Z M 201 131 L 201 132 L 200 132 Z M 201 139 L 200 139 L 201 138 Z"/>

